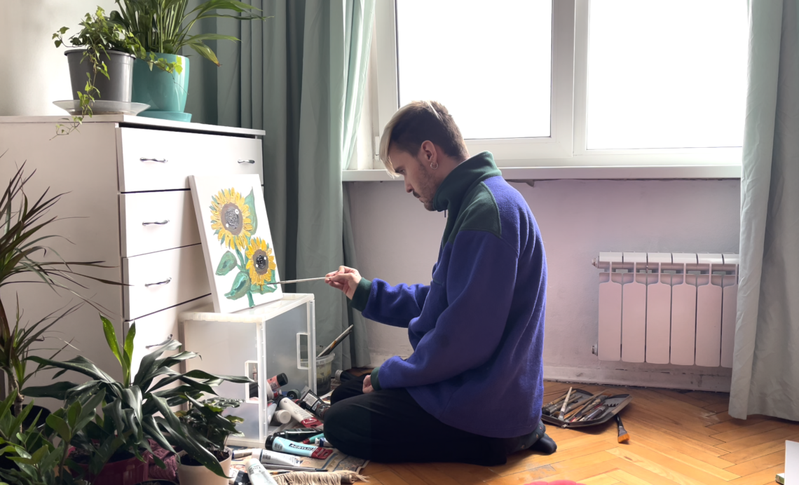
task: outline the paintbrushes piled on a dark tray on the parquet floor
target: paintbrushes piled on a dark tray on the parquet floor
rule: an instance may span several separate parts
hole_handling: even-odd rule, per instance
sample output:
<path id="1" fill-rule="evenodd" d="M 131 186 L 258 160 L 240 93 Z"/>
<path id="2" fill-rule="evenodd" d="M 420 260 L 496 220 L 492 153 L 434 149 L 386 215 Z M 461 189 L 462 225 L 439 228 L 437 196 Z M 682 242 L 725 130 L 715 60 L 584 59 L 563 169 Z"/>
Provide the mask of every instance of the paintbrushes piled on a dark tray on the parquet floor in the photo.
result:
<path id="1" fill-rule="evenodd" d="M 560 427 L 594 426 L 618 415 L 631 400 L 629 394 L 614 394 L 612 389 L 592 394 L 569 388 L 569 392 L 541 408 L 541 419 Z"/>

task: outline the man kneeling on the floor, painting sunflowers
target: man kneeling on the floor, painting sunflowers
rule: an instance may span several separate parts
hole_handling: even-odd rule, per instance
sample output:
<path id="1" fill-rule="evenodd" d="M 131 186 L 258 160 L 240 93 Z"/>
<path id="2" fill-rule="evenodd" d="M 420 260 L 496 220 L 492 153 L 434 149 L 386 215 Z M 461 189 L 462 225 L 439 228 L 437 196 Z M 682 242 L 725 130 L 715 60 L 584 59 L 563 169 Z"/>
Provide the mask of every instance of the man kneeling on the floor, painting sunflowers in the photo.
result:
<path id="1" fill-rule="evenodd" d="M 365 317 L 407 328 L 414 353 L 337 388 L 325 436 L 384 463 L 497 465 L 523 449 L 554 452 L 540 420 L 547 261 L 527 202 L 491 153 L 469 157 L 435 101 L 392 117 L 380 159 L 425 209 L 447 211 L 447 225 L 429 285 L 345 267 L 327 275 Z"/>

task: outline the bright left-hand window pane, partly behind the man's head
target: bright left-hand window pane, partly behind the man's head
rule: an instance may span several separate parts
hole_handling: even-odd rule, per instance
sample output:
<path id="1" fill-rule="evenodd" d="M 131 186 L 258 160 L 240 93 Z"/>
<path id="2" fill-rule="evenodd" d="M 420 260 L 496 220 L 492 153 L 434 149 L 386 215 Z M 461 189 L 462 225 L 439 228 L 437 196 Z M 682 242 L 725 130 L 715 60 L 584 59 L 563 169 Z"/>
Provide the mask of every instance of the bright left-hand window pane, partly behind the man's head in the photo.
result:
<path id="1" fill-rule="evenodd" d="M 397 0 L 400 106 L 435 100 L 465 138 L 550 136 L 549 0 Z"/>

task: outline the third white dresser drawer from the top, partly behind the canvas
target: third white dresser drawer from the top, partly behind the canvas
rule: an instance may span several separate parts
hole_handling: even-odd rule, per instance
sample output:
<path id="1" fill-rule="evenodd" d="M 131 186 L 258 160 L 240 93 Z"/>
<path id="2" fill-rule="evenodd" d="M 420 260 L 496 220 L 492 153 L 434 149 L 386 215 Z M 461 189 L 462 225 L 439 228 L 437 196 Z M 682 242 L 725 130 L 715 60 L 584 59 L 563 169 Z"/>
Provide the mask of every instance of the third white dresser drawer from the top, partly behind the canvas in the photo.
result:
<path id="1" fill-rule="evenodd" d="M 122 258 L 125 320 L 211 292 L 202 244 Z"/>

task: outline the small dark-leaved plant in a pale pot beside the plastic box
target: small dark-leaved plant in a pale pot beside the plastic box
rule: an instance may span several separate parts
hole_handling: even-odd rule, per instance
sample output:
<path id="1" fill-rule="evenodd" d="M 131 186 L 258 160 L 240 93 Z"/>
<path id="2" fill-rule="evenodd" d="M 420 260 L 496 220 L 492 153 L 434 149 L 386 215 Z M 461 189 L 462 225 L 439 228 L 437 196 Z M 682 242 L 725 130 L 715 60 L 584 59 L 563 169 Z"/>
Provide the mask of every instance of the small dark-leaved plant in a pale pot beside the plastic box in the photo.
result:
<path id="1" fill-rule="evenodd" d="M 218 396 L 202 401 L 189 397 L 189 411 L 176 413 L 181 422 L 189 429 L 189 433 L 195 435 L 203 443 L 205 449 L 219 460 L 225 475 L 229 474 L 230 462 L 233 459 L 233 451 L 225 447 L 225 443 L 230 435 L 242 435 L 237 431 L 236 424 L 243 423 L 244 419 L 234 415 L 222 415 L 222 413 L 230 407 L 239 407 L 242 402 L 242 400 Z M 190 455 L 181 458 L 181 463 L 177 466 L 177 476 L 180 483 L 193 483 L 194 485 L 226 485 L 228 483 L 227 479 L 214 475 L 209 468 Z"/>

